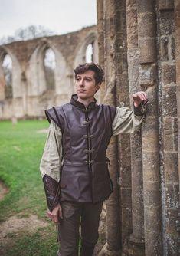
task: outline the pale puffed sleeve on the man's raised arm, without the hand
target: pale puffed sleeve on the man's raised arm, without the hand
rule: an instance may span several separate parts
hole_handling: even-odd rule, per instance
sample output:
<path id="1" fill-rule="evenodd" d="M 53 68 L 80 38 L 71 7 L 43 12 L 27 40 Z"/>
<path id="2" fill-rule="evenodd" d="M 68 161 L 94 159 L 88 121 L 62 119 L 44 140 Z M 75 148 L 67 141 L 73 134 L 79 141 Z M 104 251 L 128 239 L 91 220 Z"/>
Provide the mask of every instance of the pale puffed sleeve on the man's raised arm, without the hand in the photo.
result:
<path id="1" fill-rule="evenodd" d="M 113 119 L 113 135 L 119 133 L 133 133 L 138 130 L 146 117 L 146 107 L 116 107 L 116 115 Z"/>

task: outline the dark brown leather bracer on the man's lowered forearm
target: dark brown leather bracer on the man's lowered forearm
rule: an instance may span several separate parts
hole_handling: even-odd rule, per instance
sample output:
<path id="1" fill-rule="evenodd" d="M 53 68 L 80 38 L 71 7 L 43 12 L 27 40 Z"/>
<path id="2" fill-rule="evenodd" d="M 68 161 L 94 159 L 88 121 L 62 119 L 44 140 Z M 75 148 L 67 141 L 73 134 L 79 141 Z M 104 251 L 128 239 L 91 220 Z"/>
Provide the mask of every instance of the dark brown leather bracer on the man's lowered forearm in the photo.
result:
<path id="1" fill-rule="evenodd" d="M 53 179 L 51 176 L 48 176 L 47 174 L 45 174 L 43 177 L 43 183 L 46 194 L 47 206 L 52 212 L 52 210 L 59 203 L 60 185 L 55 179 Z"/>

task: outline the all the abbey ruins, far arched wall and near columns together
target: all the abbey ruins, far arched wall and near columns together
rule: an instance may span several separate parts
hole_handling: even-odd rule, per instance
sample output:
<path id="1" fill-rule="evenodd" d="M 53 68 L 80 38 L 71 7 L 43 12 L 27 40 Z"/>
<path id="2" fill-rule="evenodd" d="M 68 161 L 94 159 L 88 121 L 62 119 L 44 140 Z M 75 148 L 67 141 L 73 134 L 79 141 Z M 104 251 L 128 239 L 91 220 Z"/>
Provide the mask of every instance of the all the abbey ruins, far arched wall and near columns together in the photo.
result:
<path id="1" fill-rule="evenodd" d="M 180 254 L 180 0 L 97 0 L 98 25 L 70 34 L 0 47 L 13 62 L 13 97 L 5 99 L 0 65 L 0 119 L 44 117 L 67 102 L 73 68 L 93 61 L 105 70 L 100 99 L 132 107 L 145 90 L 149 112 L 142 130 L 111 139 L 108 149 L 114 192 L 106 202 L 106 245 L 99 255 Z M 97 49 L 98 37 L 98 49 Z M 44 49 L 56 56 L 55 90 L 47 90 Z"/>

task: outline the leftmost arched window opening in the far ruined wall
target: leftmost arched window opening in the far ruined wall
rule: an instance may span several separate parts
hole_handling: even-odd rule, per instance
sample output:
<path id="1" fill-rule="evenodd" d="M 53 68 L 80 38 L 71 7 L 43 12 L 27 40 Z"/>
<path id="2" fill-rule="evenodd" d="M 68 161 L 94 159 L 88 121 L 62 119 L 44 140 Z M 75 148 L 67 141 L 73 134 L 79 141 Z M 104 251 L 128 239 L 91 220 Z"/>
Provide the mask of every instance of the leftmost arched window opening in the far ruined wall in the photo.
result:
<path id="1" fill-rule="evenodd" d="M 5 77 L 5 98 L 12 98 L 12 60 L 6 54 L 2 62 L 2 70 Z"/>

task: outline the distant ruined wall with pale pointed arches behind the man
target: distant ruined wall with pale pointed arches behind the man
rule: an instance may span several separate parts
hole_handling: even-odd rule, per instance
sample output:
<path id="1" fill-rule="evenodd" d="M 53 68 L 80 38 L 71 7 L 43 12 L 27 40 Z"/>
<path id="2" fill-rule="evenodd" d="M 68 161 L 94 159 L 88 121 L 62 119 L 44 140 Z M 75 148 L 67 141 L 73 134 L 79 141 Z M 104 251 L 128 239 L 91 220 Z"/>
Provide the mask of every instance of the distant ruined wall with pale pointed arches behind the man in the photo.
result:
<path id="1" fill-rule="evenodd" d="M 74 93 L 74 67 L 85 62 L 86 49 L 93 44 L 93 61 L 97 62 L 97 28 L 18 41 L 0 46 L 0 120 L 44 117 L 48 107 L 61 105 Z M 44 51 L 54 51 L 55 88 L 47 90 L 44 74 Z M 8 54 L 12 60 L 12 98 L 5 97 L 5 76 L 2 62 Z"/>

